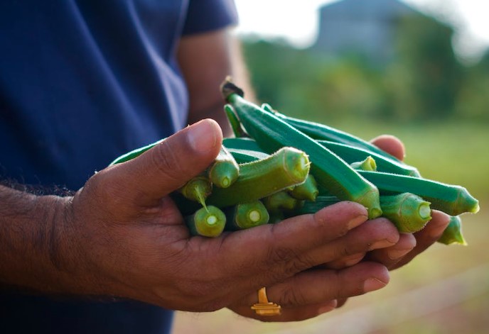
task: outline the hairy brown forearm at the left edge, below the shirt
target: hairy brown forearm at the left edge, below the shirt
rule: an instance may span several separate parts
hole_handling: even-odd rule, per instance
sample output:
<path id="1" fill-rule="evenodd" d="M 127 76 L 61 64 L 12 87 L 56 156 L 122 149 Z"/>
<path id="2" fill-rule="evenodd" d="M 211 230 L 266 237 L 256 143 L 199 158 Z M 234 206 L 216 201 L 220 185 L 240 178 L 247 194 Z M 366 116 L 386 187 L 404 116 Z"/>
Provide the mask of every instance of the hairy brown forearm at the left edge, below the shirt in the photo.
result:
<path id="1" fill-rule="evenodd" d="M 65 202 L 0 185 L 0 286 L 41 294 L 74 294 L 82 284 L 63 235 Z"/>

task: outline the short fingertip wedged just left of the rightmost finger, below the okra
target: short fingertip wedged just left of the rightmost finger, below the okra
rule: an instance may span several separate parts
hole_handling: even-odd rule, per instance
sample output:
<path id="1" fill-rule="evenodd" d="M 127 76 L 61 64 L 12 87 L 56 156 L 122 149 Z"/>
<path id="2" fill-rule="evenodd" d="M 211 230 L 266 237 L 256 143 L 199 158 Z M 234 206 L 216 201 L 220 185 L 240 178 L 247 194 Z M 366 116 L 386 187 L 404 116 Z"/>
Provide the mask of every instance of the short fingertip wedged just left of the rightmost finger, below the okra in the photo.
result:
<path id="1" fill-rule="evenodd" d="M 387 268 L 393 267 L 402 257 L 411 252 L 416 247 L 417 241 L 411 233 L 399 235 L 399 241 L 392 247 L 372 250 L 367 254 L 370 261 L 380 262 Z"/>

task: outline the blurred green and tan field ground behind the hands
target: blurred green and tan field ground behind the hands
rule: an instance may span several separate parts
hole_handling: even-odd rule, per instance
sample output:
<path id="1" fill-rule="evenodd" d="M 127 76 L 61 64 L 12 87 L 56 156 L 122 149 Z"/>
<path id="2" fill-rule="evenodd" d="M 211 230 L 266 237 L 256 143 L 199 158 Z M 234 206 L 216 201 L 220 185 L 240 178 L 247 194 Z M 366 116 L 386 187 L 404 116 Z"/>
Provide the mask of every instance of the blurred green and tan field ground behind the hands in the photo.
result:
<path id="1" fill-rule="evenodd" d="M 489 126 L 329 124 L 360 136 L 397 135 L 406 162 L 430 179 L 459 184 L 480 200 L 463 216 L 468 246 L 436 244 L 391 274 L 382 290 L 350 299 L 343 308 L 300 323 L 261 323 L 221 310 L 176 314 L 173 333 L 483 334 L 489 329 Z"/>

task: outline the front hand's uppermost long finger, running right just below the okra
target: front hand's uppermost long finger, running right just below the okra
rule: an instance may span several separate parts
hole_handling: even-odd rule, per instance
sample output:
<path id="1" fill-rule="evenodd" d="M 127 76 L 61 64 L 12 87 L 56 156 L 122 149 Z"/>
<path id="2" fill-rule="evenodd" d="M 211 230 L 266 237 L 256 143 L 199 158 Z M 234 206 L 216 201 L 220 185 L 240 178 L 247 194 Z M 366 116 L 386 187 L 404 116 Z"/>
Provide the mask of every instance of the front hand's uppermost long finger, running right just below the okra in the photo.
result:
<path id="1" fill-rule="evenodd" d="M 267 286 L 318 265 L 303 253 L 340 238 L 366 220 L 364 206 L 343 201 L 314 214 L 230 233 L 222 240 L 215 263 L 227 263 L 228 274 L 240 275 L 235 282 L 242 282 L 242 289 Z"/>

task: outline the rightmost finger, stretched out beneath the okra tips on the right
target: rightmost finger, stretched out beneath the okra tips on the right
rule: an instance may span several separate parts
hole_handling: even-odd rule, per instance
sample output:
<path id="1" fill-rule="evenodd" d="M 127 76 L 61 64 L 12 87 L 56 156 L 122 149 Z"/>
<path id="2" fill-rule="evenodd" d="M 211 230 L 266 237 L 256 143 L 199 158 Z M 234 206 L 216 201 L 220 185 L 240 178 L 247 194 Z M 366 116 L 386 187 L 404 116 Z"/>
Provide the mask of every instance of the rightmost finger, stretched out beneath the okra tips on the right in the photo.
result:
<path id="1" fill-rule="evenodd" d="M 414 233 L 414 238 L 416 238 L 416 247 L 402 257 L 399 262 L 392 266 L 391 269 L 402 267 L 411 261 L 414 257 L 424 252 L 429 246 L 436 243 L 441 235 L 443 234 L 446 226 L 450 222 L 450 216 L 441 211 L 432 210 L 431 211 L 431 221 L 426 224 L 426 227 L 417 233 Z"/>

